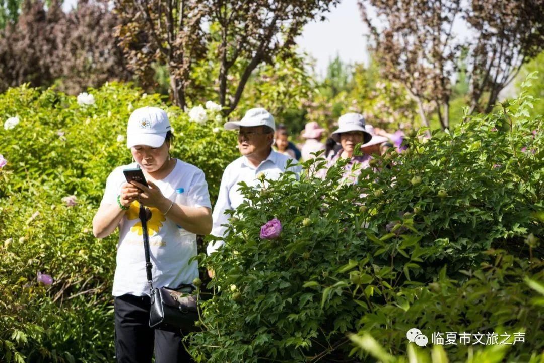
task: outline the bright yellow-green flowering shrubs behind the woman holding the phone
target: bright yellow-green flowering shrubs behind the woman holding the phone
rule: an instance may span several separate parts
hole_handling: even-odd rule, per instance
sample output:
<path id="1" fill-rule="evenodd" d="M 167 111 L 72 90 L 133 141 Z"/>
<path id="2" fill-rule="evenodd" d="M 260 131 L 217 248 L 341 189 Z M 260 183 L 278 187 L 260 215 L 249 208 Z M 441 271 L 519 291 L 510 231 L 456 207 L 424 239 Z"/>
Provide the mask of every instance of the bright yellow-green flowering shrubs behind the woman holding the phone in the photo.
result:
<path id="1" fill-rule="evenodd" d="M 130 85 L 89 89 L 94 104 L 22 86 L 0 95 L 0 361 L 113 360 L 112 282 L 116 233 L 92 236 L 108 174 L 131 162 L 126 124 L 134 108 L 163 107 L 176 139 L 171 155 L 202 168 L 212 201 L 222 170 L 238 156 L 236 136 L 205 125 Z M 77 204 L 63 198 L 75 195 Z M 35 214 L 37 213 L 37 214 Z M 50 274 L 39 286 L 36 273 Z"/>

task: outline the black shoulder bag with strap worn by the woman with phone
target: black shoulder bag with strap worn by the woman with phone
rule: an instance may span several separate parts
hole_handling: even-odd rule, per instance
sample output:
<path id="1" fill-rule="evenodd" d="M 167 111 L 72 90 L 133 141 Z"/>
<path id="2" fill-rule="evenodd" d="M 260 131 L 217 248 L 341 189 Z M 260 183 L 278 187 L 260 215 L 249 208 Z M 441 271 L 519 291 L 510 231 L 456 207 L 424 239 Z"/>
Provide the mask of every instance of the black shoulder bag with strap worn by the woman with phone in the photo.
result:
<path id="1" fill-rule="evenodd" d="M 193 285 L 182 284 L 175 289 L 168 287 L 153 288 L 153 276 L 149 259 L 149 235 L 147 234 L 147 220 L 151 217 L 151 211 L 140 204 L 138 214 L 141 222 L 141 231 L 144 237 L 145 269 L 149 294 L 151 297 L 151 311 L 149 326 L 151 328 L 177 331 L 183 333 L 194 331 L 195 321 L 199 319 L 197 297 L 191 294 Z"/>

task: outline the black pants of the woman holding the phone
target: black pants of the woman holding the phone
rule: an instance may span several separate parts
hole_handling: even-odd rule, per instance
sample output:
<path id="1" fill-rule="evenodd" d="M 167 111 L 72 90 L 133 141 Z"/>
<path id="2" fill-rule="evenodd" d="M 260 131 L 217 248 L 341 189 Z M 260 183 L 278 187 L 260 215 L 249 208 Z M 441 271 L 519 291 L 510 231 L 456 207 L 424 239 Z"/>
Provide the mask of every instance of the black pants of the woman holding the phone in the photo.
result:
<path id="1" fill-rule="evenodd" d="M 114 300 L 115 356 L 118 363 L 193 362 L 182 344 L 181 333 L 149 327 L 149 296 L 123 295 Z"/>

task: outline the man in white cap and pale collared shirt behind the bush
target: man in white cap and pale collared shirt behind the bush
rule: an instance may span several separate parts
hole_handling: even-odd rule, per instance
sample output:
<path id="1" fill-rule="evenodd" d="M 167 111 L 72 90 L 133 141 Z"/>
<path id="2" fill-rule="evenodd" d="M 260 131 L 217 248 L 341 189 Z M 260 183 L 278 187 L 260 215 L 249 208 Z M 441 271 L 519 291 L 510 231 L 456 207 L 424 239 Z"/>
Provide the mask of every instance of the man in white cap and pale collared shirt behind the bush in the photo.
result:
<path id="1" fill-rule="evenodd" d="M 273 116 L 264 108 L 252 108 L 246 112 L 240 121 L 225 122 L 226 130 L 238 130 L 238 149 L 241 157 L 230 163 L 221 179 L 219 195 L 213 208 L 212 235 L 223 237 L 228 224 L 226 210 L 236 209 L 244 201 L 239 191 L 239 183 L 257 186 L 260 181 L 257 175 L 263 173 L 266 179 L 279 179 L 286 171 L 290 158 L 272 150 L 276 126 Z M 298 165 L 289 170 L 300 173 Z M 206 249 L 208 255 L 224 244 L 222 241 L 209 243 Z"/>

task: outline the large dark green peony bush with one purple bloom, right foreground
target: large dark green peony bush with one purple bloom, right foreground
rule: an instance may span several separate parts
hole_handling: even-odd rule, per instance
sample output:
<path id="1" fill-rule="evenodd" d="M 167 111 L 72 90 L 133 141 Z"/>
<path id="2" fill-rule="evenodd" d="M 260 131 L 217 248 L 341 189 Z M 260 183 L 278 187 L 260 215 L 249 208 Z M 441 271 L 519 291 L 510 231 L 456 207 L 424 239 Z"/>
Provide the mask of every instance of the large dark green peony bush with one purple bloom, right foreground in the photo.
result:
<path id="1" fill-rule="evenodd" d="M 216 277 L 191 352 L 202 362 L 367 361 L 352 334 L 404 355 L 406 331 L 418 327 L 429 337 L 523 331 L 526 341 L 504 354 L 528 361 L 544 347 L 544 139 L 532 101 L 523 94 L 430 140 L 415 135 L 357 184 L 342 182 L 342 163 L 318 179 L 308 172 L 318 159 L 300 181 L 287 173 L 243 186 L 248 201 L 225 247 L 199 257 Z M 259 238 L 273 218 L 281 236 Z M 488 354 L 447 349 L 454 361 Z"/>

